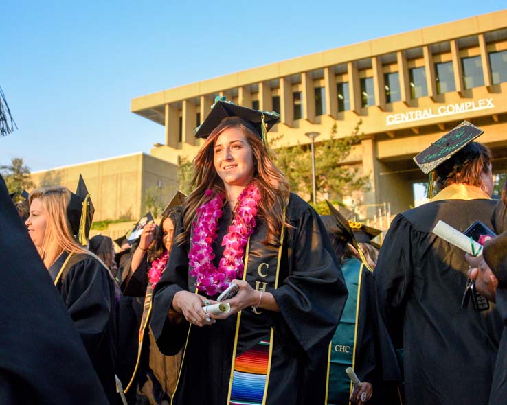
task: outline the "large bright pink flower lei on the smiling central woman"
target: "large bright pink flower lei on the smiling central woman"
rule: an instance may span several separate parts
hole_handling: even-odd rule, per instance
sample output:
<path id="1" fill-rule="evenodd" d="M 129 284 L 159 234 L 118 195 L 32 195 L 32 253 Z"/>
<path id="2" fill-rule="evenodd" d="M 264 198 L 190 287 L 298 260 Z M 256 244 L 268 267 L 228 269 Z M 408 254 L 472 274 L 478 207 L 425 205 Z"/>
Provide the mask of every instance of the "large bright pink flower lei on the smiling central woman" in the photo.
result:
<path id="1" fill-rule="evenodd" d="M 213 191 L 206 190 L 206 196 L 212 196 Z M 215 254 L 212 242 L 216 240 L 218 220 L 222 216 L 223 194 L 215 194 L 207 203 L 196 211 L 197 220 L 193 224 L 192 246 L 188 253 L 189 264 L 192 267 L 190 275 L 196 277 L 196 287 L 206 292 L 210 297 L 222 292 L 231 281 L 243 277 L 243 255 L 248 238 L 256 227 L 257 203 L 260 192 L 254 183 L 250 183 L 238 197 L 238 209 L 224 235 L 222 246 L 225 246 L 223 257 L 218 268 L 213 264 Z"/>

